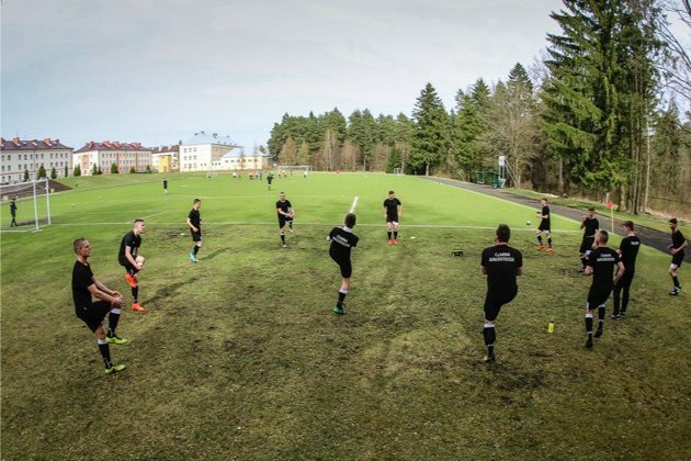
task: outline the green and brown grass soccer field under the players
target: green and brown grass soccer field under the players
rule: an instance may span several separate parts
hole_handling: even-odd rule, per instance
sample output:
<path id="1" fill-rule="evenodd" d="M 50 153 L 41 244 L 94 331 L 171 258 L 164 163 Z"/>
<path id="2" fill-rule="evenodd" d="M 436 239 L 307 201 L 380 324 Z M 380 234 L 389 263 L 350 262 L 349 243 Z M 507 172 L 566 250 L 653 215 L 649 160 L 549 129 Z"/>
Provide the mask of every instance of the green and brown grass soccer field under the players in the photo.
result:
<path id="1" fill-rule="evenodd" d="M 534 248 L 535 210 L 410 177 L 315 173 L 268 191 L 174 176 L 169 195 L 160 179 L 70 178 L 79 187 L 54 195 L 53 226 L 2 234 L 3 459 L 691 457 L 689 302 L 686 291 L 667 295 L 667 255 L 642 249 L 630 317 L 608 316 L 587 351 L 590 281 L 576 272 L 573 221 L 555 216 L 548 256 Z M 388 189 L 404 203 L 395 247 L 381 213 Z M 296 209 L 287 249 L 274 211 L 282 190 Z M 199 265 L 184 225 L 195 196 Z M 325 237 L 355 196 L 361 240 L 340 317 Z M 123 311 L 118 334 L 132 342 L 111 351 L 127 369 L 106 376 L 73 314 L 71 241 L 89 238 L 94 273 L 128 299 L 116 252 L 135 217 L 147 221 L 148 311 Z M 479 254 L 499 222 L 525 276 L 487 367 Z"/>

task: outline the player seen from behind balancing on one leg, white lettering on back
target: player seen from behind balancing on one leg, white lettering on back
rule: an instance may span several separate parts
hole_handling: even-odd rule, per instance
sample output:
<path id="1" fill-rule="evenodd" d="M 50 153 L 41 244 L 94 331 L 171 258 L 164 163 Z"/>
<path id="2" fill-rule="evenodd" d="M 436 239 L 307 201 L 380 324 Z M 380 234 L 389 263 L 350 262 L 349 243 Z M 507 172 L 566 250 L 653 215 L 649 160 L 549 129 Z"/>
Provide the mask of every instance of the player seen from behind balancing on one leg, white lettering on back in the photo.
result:
<path id="1" fill-rule="evenodd" d="M 480 272 L 487 276 L 487 295 L 485 296 L 485 346 L 487 356 L 483 362 L 495 361 L 495 321 L 502 305 L 510 303 L 518 294 L 516 278 L 523 274 L 523 255 L 509 246 L 511 229 L 499 224 L 495 237 L 496 245 L 483 250 Z"/>

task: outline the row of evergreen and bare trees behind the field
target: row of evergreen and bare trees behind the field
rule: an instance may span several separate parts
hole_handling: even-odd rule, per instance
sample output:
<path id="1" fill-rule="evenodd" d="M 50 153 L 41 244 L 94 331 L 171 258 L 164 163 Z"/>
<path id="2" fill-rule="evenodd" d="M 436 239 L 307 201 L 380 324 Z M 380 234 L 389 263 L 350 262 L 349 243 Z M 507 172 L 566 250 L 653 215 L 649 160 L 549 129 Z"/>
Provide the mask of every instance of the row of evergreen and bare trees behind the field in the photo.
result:
<path id="1" fill-rule="evenodd" d="M 677 3 L 563 3 L 551 14 L 562 32 L 547 35 L 530 75 L 517 63 L 495 83 L 478 78 L 449 109 L 427 83 L 410 117 L 367 109 L 285 114 L 271 131 L 270 156 L 319 170 L 399 168 L 462 180 L 496 171 L 505 156 L 511 185 L 593 199 L 611 192 L 620 209 L 688 213 L 691 124 L 673 94 L 686 94 L 679 76 L 691 60 L 665 15 Z M 691 26 L 688 1 L 676 13 Z"/>

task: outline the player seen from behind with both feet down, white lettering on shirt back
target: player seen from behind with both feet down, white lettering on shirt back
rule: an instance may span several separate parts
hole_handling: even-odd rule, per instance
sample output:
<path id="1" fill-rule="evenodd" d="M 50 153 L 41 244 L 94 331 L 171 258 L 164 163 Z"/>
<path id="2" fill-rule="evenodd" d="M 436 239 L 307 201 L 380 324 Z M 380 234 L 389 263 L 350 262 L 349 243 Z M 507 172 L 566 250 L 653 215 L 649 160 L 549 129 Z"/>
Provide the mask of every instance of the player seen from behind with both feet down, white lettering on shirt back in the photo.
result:
<path id="1" fill-rule="evenodd" d="M 592 315 L 596 306 L 598 307 L 598 329 L 594 337 L 602 336 L 602 327 L 604 326 L 604 303 L 610 297 L 612 288 L 619 284 L 619 280 L 624 274 L 624 265 L 621 261 L 619 252 L 608 248 L 607 241 L 610 236 L 607 231 L 599 231 L 596 234 L 593 249 L 588 256 L 585 274 L 592 276 L 592 283 L 588 291 L 588 301 L 586 303 L 586 334 L 588 339 L 586 347 L 592 348 Z M 616 267 L 614 283 L 612 283 L 612 270 Z"/>

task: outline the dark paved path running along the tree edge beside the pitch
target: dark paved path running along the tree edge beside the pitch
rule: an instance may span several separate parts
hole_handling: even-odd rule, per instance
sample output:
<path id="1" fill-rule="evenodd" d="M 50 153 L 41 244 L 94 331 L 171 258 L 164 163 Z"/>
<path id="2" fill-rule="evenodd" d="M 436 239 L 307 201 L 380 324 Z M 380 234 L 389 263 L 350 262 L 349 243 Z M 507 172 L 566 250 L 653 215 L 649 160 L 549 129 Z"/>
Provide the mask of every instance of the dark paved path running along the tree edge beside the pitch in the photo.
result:
<path id="1" fill-rule="evenodd" d="M 442 184 L 453 185 L 456 188 L 467 189 L 473 192 L 480 192 L 487 195 L 498 196 L 503 200 L 508 200 L 510 202 L 521 203 L 523 205 L 537 207 L 540 205 L 540 201 L 535 199 L 529 199 L 526 196 L 514 195 L 501 189 L 494 189 L 488 185 L 475 184 L 472 182 L 461 182 L 455 181 L 453 179 L 445 178 L 435 178 L 435 177 L 419 177 L 422 179 L 428 179 L 434 182 L 441 182 Z M 554 213 L 559 214 L 562 216 L 570 217 L 571 220 L 576 220 L 580 222 L 581 216 L 584 215 L 584 210 L 576 210 L 568 206 L 563 205 L 554 205 L 550 204 L 550 210 L 554 211 Z M 609 217 L 607 218 L 609 222 Z M 614 218 L 614 225 L 618 231 L 621 229 L 622 225 L 621 220 Z M 669 255 L 669 249 L 667 246 L 671 244 L 671 237 L 669 233 L 660 232 L 657 229 L 652 229 L 649 227 L 638 226 L 636 225 L 636 234 L 641 238 L 641 240 L 655 249 L 658 249 L 667 255 Z M 691 251 L 684 251 L 684 261 L 691 262 Z"/>

